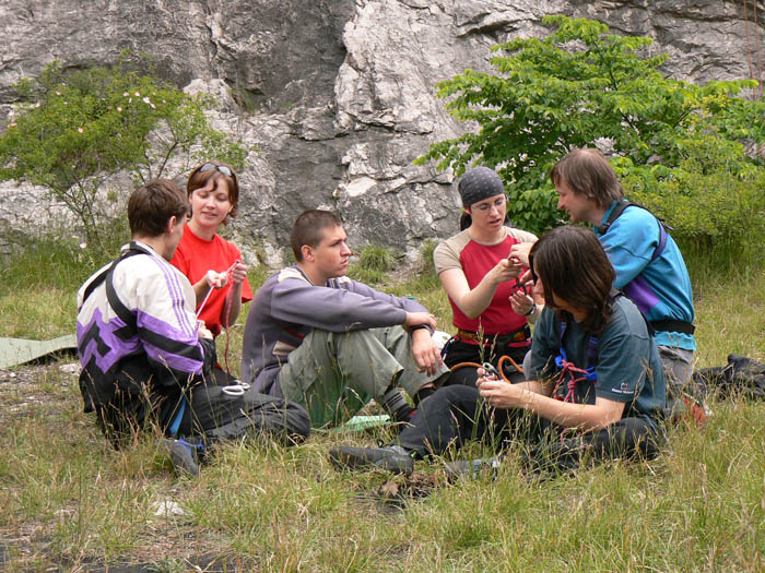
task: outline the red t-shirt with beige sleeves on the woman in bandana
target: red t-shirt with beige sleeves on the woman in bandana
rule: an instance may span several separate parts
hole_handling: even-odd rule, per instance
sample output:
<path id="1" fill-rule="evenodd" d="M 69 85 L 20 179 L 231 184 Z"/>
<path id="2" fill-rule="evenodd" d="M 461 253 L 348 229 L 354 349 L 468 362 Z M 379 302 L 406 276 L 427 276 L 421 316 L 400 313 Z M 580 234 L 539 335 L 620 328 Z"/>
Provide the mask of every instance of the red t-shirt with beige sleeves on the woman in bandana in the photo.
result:
<path id="1" fill-rule="evenodd" d="M 472 290 L 483 277 L 494 268 L 501 259 L 507 259 L 510 247 L 519 242 L 533 242 L 537 237 L 519 229 L 508 229 L 505 240 L 497 244 L 481 244 L 471 238 L 469 229 L 442 242 L 434 253 L 436 272 L 448 268 L 461 268 Z M 506 334 L 522 327 L 526 317 L 516 314 L 510 306 L 509 297 L 517 290 L 516 282 L 502 283 L 486 310 L 478 318 L 469 319 L 451 298 L 454 325 L 463 331 L 483 332 L 484 334 Z"/>

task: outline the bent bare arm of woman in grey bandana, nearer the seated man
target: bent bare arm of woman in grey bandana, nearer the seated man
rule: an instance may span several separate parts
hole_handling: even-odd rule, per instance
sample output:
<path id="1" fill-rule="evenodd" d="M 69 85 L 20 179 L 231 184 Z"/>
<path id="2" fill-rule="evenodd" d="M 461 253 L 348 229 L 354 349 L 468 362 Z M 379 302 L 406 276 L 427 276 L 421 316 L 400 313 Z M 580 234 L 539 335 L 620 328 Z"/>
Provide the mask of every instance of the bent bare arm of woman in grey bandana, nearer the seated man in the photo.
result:
<path id="1" fill-rule="evenodd" d="M 448 268 L 438 277 L 449 298 L 466 317 L 474 319 L 489 308 L 497 286 L 517 277 L 519 272 L 520 266 L 514 265 L 507 259 L 502 259 L 472 290 L 461 268 Z"/>

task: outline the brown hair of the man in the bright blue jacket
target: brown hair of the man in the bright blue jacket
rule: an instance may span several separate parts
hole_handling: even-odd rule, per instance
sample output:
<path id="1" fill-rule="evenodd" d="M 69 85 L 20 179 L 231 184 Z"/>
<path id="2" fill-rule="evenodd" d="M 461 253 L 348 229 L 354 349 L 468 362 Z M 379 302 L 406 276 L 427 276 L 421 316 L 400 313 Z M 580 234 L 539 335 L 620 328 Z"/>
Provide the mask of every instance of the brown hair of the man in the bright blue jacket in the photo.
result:
<path id="1" fill-rule="evenodd" d="M 563 179 L 572 191 L 591 199 L 601 208 L 624 198 L 616 172 L 599 150 L 570 152 L 553 166 L 550 179 L 554 186 Z"/>

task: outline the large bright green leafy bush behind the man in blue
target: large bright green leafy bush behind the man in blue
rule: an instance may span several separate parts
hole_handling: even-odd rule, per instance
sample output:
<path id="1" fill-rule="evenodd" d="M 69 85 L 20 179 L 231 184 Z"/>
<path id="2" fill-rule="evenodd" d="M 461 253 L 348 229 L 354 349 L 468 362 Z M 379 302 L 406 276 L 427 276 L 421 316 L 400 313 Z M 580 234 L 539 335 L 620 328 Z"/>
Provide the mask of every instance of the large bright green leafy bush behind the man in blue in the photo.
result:
<path id="1" fill-rule="evenodd" d="M 726 189 L 738 192 L 737 179 L 762 183 L 762 162 L 733 143 L 765 141 L 765 104 L 735 97 L 756 83 L 698 86 L 667 79 L 659 71 L 667 55 L 642 57 L 652 41 L 648 37 L 608 34 L 608 26 L 585 19 L 555 15 L 543 22 L 556 28 L 545 38 L 516 38 L 493 48 L 496 74 L 467 70 L 438 84 L 449 111 L 480 128 L 432 145 L 417 163 L 437 160 L 439 169 L 451 167 L 458 176 L 476 164 L 497 169 L 513 223 L 541 232 L 560 217 L 549 181 L 552 166 L 572 148 L 605 143 L 621 158 L 615 163 L 629 191 L 651 205 L 666 205 L 657 211 L 681 234 L 702 232 L 692 230 L 694 220 L 683 211 L 672 211 L 693 202 L 678 201 L 683 196 L 696 198 L 694 210 L 707 231 L 734 232 L 727 225 L 740 220 L 720 217 L 716 200 L 699 201 L 709 188 L 698 184 L 723 180 Z"/>

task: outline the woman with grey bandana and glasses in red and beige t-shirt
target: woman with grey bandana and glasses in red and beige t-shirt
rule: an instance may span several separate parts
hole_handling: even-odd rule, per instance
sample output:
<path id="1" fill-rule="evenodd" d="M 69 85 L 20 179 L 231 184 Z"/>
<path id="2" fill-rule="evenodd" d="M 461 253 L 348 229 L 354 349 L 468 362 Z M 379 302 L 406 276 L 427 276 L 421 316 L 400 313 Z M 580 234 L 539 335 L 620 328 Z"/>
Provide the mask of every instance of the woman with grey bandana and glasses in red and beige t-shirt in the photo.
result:
<path id="1" fill-rule="evenodd" d="M 436 272 L 449 295 L 458 329 L 444 361 L 450 368 L 484 361 L 497 366 L 501 357 L 510 356 L 520 365 L 531 345 L 528 319 L 538 311 L 518 285 L 522 265 L 510 258 L 510 248 L 534 242 L 537 237 L 505 226 L 505 188 L 493 169 L 468 171 L 459 182 L 459 193 L 463 230 L 439 243 L 434 252 Z M 511 366 L 505 367 L 505 372 L 511 380 L 522 380 Z M 462 367 L 450 382 L 474 385 L 476 379 L 475 368 Z"/>

